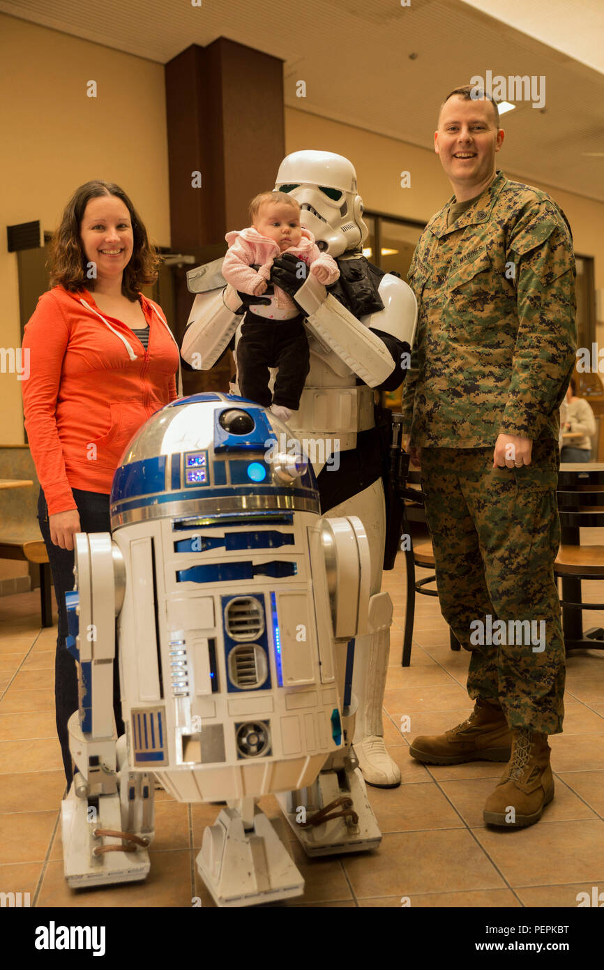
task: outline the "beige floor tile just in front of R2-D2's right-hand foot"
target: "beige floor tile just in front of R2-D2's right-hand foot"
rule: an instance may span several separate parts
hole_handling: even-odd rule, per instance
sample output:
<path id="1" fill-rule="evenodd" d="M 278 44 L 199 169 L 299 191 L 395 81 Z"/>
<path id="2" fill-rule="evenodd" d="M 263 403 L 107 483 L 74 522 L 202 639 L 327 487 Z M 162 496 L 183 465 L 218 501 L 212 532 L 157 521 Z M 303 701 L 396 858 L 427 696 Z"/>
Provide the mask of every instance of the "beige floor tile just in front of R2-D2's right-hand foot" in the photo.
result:
<path id="1" fill-rule="evenodd" d="M 359 899 L 504 887 L 466 828 L 385 835 L 379 849 L 342 861 Z"/>

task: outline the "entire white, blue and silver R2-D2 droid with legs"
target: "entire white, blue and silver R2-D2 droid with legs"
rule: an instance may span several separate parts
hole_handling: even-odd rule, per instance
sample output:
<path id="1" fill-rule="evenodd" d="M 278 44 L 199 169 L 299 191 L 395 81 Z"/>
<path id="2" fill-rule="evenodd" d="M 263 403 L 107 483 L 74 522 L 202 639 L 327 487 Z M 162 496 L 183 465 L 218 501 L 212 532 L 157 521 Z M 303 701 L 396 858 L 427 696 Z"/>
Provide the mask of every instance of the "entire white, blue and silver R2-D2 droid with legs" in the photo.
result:
<path id="1" fill-rule="evenodd" d="M 341 842 L 342 827 L 353 850 L 379 843 L 360 771 L 354 809 L 336 778 L 332 801 L 329 779 L 315 784 L 328 758 L 335 776 L 349 757 L 341 698 L 346 642 L 367 612 L 366 533 L 358 518 L 321 518 L 305 458 L 275 454 L 283 432 L 232 396 L 167 405 L 115 473 L 111 535 L 77 536 L 77 772 L 62 804 L 72 887 L 145 878 L 155 779 L 178 801 L 227 800 L 197 858 L 221 906 L 302 893 L 262 795 L 293 792 L 285 810 L 310 830 L 305 844 Z"/>

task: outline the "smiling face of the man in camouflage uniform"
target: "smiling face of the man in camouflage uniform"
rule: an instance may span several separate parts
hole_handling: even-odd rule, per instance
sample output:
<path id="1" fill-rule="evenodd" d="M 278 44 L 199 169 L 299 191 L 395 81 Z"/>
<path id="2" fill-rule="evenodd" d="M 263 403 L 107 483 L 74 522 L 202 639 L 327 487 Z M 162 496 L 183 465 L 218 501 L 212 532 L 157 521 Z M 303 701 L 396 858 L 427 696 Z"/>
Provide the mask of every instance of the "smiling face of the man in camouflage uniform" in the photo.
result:
<path id="1" fill-rule="evenodd" d="M 456 195 L 458 188 L 465 198 L 468 191 L 479 193 L 489 184 L 495 172 L 495 152 L 501 147 L 504 133 L 497 129 L 493 105 L 488 100 L 466 100 L 454 94 L 442 107 L 438 129 L 434 132 L 434 151 Z"/>

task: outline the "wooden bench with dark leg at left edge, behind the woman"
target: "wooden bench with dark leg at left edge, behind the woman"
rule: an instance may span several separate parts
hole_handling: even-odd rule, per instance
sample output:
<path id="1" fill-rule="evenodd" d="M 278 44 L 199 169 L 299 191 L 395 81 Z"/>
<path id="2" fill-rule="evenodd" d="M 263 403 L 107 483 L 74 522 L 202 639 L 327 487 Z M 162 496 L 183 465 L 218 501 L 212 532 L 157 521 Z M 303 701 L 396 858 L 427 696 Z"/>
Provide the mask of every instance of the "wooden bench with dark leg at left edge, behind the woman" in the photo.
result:
<path id="1" fill-rule="evenodd" d="M 40 571 L 42 626 L 52 626 L 52 578 L 38 525 L 40 483 L 26 444 L 0 445 L 0 478 L 31 479 L 33 485 L 0 489 L 0 559 L 35 563 Z"/>

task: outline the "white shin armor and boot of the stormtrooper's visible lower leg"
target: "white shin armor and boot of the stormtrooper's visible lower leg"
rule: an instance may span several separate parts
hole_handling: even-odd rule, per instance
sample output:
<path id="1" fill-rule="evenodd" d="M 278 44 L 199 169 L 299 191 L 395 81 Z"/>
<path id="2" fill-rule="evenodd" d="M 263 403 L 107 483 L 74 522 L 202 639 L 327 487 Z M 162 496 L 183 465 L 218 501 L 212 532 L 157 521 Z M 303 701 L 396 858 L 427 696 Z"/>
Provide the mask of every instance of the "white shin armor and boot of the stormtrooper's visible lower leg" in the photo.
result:
<path id="1" fill-rule="evenodd" d="M 375 788 L 397 788 L 400 785 L 400 770 L 386 751 L 382 724 L 391 618 L 392 602 L 388 594 L 380 593 L 371 597 L 371 633 L 358 637 L 355 645 L 355 664 L 358 654 L 366 656 L 360 658 L 362 663 L 359 664 L 364 683 L 359 683 L 358 688 L 359 710 L 354 751 L 366 784 Z"/>

